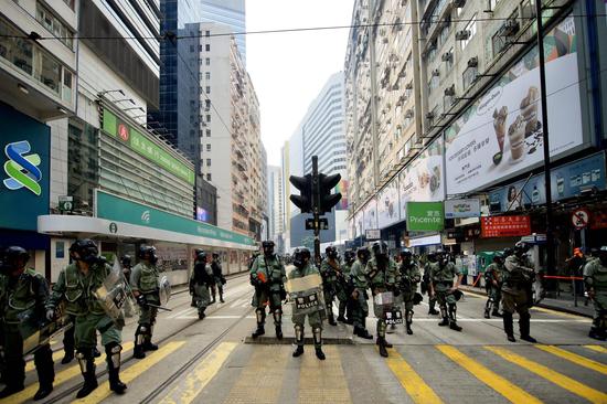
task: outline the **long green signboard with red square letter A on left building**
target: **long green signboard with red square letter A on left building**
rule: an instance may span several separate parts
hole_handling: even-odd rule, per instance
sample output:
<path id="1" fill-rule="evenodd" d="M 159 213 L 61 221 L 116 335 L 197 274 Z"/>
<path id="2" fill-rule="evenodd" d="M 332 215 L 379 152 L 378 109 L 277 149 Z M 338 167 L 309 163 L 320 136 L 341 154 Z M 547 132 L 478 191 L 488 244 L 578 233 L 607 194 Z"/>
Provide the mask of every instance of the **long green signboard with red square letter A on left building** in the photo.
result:
<path id="1" fill-rule="evenodd" d="M 194 170 L 163 150 L 142 131 L 120 120 L 108 109 L 104 109 L 102 129 L 107 135 L 125 142 L 138 155 L 143 156 L 190 184 L 194 184 Z"/>

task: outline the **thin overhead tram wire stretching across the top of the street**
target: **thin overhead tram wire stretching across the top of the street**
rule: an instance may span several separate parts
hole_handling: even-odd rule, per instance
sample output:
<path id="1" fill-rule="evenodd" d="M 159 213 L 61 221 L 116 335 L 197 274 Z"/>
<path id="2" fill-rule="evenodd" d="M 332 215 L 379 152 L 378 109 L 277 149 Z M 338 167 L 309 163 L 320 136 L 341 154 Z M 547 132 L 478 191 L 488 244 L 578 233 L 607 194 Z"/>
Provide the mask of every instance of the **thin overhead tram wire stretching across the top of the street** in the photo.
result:
<path id="1" fill-rule="evenodd" d="M 585 18 L 589 14 L 569 14 L 573 18 Z M 607 17 L 607 13 L 595 13 L 594 18 Z M 457 22 L 470 22 L 470 21 L 507 21 L 510 20 L 510 17 L 486 17 L 486 18 L 476 18 L 476 19 L 436 19 L 428 21 L 401 21 L 401 22 L 384 22 L 384 23 L 373 23 L 373 24 L 350 24 L 350 25 L 326 25 L 326 26 L 303 26 L 303 28 L 287 28 L 287 29 L 276 29 L 276 30 L 259 30 L 259 31 L 243 31 L 243 32 L 230 32 L 230 33 L 216 33 L 216 34 L 198 34 L 198 35 L 170 35 L 171 39 L 181 40 L 181 39 L 195 39 L 195 38 L 213 38 L 213 36 L 228 36 L 228 35 L 257 35 L 257 34 L 274 34 L 274 33 L 291 33 L 291 32 L 310 32 L 310 31 L 331 31 L 331 30 L 345 30 L 345 29 L 365 29 L 365 28 L 393 28 L 393 26 L 406 26 L 406 25 L 419 25 L 423 23 L 438 24 L 444 22 L 457 23 Z M 535 17 L 530 18 L 529 20 L 535 20 Z M 159 35 L 159 36 L 40 36 L 31 38 L 31 35 L 6 35 L 0 34 L 0 38 L 10 38 L 10 39 L 25 39 L 25 40 L 35 40 L 35 41 L 45 41 L 45 40 L 167 40 L 169 35 Z"/>

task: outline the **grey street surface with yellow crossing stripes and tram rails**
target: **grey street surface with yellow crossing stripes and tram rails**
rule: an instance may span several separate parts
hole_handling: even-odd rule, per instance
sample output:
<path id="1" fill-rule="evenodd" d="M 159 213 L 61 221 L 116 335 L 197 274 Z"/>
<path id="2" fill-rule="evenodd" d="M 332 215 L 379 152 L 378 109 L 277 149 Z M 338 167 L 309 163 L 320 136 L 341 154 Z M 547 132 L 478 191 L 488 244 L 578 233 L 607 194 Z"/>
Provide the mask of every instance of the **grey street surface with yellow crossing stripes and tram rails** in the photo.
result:
<path id="1" fill-rule="evenodd" d="M 352 339 L 351 326 L 324 325 L 327 360 L 319 361 L 308 344 L 301 358 L 291 358 L 289 308 L 283 343 L 274 339 L 271 316 L 266 336 L 249 343 L 252 294 L 247 276 L 228 279 L 226 302 L 212 305 L 203 321 L 188 293 L 173 295 L 173 311 L 161 312 L 155 328 L 160 349 L 143 360 L 131 357 L 136 319 L 127 319 L 120 372 L 127 393 L 109 391 L 104 355 L 97 359 L 99 387 L 78 402 L 607 403 L 607 344 L 587 338 L 587 318 L 534 308 L 531 334 L 540 343 L 510 343 L 500 318 L 482 318 L 486 298 L 466 294 L 458 304 L 462 332 L 438 327 L 423 302 L 415 308 L 413 336 L 403 326 L 387 334 L 394 343 L 388 359 L 379 355 L 374 340 Z M 373 318 L 368 328 L 375 334 Z M 308 326 L 306 332 L 310 337 Z M 61 341 L 52 348 L 55 390 L 45 402 L 72 403 L 82 383 L 77 362 L 62 365 Z M 28 387 L 6 403 L 28 402 L 35 393 L 32 362 L 26 370 Z"/>

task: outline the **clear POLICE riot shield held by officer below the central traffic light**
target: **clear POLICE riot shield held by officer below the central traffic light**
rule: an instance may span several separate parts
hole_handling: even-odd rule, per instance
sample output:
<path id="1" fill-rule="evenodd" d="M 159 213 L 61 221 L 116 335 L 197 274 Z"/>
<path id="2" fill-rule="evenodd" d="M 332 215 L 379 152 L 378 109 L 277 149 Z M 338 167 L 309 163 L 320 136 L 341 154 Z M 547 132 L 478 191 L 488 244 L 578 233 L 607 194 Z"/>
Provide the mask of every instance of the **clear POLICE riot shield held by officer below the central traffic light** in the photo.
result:
<path id="1" fill-rule="evenodd" d="M 324 296 L 322 294 L 322 278 L 319 274 L 289 279 L 287 291 L 292 301 L 294 315 L 311 315 L 320 312 L 321 318 L 327 316 Z"/>

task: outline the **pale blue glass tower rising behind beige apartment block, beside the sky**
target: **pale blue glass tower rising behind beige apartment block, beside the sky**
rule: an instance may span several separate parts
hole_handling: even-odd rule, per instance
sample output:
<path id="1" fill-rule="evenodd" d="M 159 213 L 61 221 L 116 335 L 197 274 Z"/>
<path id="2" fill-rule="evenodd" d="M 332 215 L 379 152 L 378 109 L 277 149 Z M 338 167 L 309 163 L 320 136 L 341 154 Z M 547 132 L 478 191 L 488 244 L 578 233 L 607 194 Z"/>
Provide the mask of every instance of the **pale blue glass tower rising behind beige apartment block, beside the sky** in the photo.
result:
<path id="1" fill-rule="evenodd" d="M 234 39 L 246 67 L 246 9 L 245 0 L 199 0 L 202 20 L 219 22 L 232 28 Z"/>

